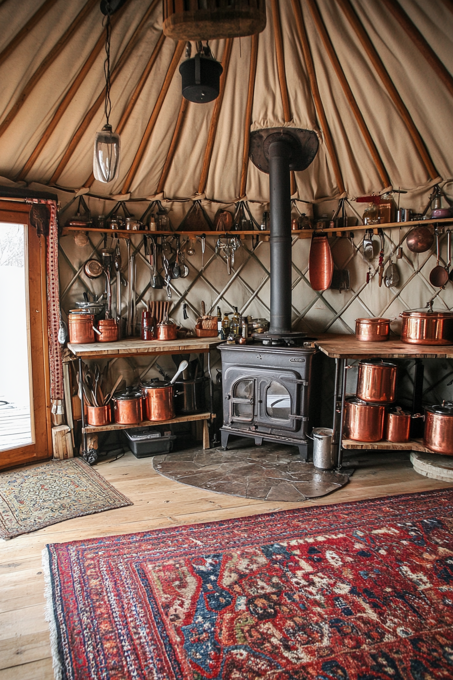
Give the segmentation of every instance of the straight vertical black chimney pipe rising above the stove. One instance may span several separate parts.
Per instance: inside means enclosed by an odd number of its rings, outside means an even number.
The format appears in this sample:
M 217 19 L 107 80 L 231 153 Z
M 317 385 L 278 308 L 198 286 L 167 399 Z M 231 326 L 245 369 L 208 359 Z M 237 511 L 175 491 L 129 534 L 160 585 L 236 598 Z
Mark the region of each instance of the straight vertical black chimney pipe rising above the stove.
M 291 333 L 291 147 L 285 139 L 268 148 L 270 190 L 270 328 Z

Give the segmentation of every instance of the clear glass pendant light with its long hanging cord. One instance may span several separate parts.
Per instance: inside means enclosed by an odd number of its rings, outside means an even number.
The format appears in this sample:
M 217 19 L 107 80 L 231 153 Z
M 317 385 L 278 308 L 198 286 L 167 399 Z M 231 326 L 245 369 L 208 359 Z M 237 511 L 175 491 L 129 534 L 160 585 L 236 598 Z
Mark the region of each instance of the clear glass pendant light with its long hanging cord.
M 111 35 L 111 23 L 110 15 L 111 11 L 109 3 L 105 3 L 105 9 L 107 10 L 107 23 L 106 23 L 106 35 L 105 35 L 105 62 L 104 62 L 104 73 L 105 73 L 105 118 L 107 122 L 103 126 L 103 129 L 96 133 L 96 139 L 94 139 L 94 154 L 93 154 L 93 174 L 94 178 L 99 182 L 113 182 L 116 180 L 117 176 L 120 174 L 120 135 L 113 132 L 111 124 L 109 124 L 109 116 L 111 112 L 111 101 L 110 101 L 110 35 Z M 103 10 L 104 11 L 104 10 Z

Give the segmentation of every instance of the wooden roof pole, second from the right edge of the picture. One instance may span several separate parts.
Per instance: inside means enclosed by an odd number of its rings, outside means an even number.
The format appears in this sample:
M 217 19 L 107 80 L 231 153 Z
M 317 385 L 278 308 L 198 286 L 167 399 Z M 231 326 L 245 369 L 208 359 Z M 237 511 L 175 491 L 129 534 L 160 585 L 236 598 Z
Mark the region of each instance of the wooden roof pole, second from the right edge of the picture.
M 395 107 L 397 108 L 399 115 L 405 122 L 407 131 L 410 133 L 412 141 L 414 141 L 416 149 L 420 154 L 420 158 L 422 158 L 424 167 L 427 169 L 430 179 L 434 180 L 436 177 L 438 177 L 439 173 L 434 167 L 433 161 L 429 156 L 429 152 L 426 146 L 424 145 L 424 141 L 420 133 L 418 132 L 415 123 L 412 120 L 412 117 L 405 106 L 405 103 L 401 99 L 399 92 L 397 88 L 395 88 L 393 81 L 388 75 L 378 52 L 376 52 L 376 49 L 374 48 L 372 41 L 369 39 L 365 29 L 363 28 L 363 24 L 361 23 L 359 17 L 355 13 L 355 10 L 352 8 L 352 5 L 350 4 L 349 0 L 337 0 L 337 2 L 342 8 L 346 17 L 348 18 L 350 25 L 355 30 L 357 37 L 361 41 L 361 44 L 365 49 L 365 52 L 367 53 L 369 61 L 371 61 L 372 65 L 376 69 L 380 79 L 382 80 L 382 84 L 384 84 L 384 87 L 386 88 L 393 103 L 395 104 Z

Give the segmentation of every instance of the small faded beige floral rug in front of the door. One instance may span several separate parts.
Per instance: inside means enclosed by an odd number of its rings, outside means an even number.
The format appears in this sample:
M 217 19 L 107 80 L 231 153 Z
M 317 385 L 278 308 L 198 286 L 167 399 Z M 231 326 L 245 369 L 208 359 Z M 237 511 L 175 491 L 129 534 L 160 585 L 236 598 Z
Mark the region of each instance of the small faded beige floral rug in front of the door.
M 81 458 L 0 473 L 0 537 L 132 505 Z

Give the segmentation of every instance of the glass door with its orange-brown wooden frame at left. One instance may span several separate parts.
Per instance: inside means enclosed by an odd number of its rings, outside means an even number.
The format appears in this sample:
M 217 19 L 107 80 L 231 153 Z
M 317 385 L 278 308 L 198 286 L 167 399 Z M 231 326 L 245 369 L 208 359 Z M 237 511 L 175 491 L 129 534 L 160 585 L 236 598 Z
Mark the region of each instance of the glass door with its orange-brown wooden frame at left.
M 45 241 L 0 203 L 0 468 L 48 458 Z M 15 219 L 16 221 L 10 221 Z

